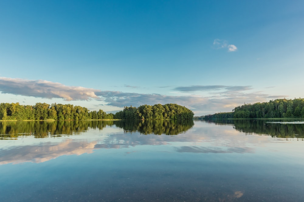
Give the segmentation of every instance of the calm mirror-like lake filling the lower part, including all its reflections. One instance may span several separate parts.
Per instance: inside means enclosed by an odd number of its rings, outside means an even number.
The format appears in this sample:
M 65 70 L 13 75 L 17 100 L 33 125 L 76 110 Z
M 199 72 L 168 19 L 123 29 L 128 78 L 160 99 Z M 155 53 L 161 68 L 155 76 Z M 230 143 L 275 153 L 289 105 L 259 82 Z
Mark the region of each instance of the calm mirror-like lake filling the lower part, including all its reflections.
M 1 201 L 303 201 L 304 122 L 0 122 Z

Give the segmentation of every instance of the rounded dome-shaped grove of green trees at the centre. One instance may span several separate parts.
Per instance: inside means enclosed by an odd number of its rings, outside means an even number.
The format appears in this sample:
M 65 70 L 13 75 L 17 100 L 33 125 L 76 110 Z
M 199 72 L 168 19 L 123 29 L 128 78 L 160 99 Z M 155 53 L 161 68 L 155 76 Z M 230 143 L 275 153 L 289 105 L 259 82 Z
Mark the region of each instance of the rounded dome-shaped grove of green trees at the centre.
M 125 107 L 123 111 L 119 111 L 114 115 L 116 119 L 192 119 L 194 113 L 181 105 L 178 104 L 154 104 L 151 105 L 141 105 L 138 108 Z

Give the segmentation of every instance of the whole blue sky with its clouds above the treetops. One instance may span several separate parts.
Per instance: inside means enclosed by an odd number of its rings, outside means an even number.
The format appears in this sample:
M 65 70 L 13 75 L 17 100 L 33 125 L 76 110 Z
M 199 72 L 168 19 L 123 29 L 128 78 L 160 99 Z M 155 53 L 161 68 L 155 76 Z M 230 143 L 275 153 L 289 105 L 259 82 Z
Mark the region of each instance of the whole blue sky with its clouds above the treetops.
M 1 1 L 0 30 L 0 102 L 200 116 L 304 97 L 304 1 Z

